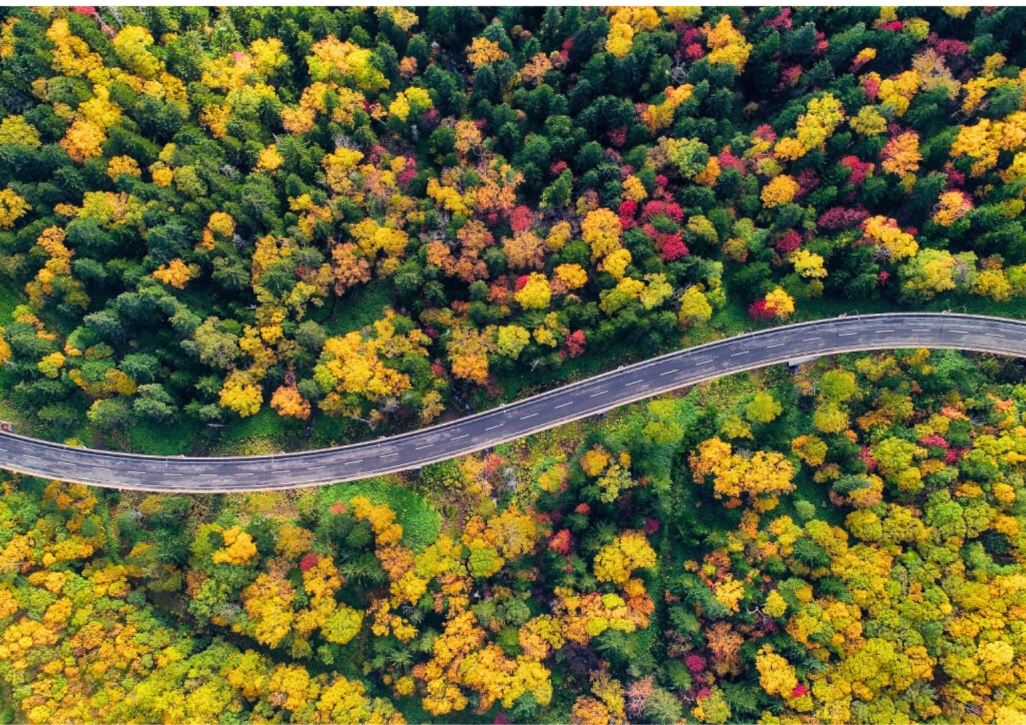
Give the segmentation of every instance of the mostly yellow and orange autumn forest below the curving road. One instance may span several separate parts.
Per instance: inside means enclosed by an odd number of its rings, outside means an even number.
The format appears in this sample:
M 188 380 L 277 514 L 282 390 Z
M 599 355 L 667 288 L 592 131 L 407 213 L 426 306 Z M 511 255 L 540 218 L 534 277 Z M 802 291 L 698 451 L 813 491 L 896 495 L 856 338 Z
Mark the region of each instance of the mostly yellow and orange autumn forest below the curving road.
M 1026 715 L 1026 388 L 824 359 L 417 474 L 169 496 L 5 476 L 19 722 Z

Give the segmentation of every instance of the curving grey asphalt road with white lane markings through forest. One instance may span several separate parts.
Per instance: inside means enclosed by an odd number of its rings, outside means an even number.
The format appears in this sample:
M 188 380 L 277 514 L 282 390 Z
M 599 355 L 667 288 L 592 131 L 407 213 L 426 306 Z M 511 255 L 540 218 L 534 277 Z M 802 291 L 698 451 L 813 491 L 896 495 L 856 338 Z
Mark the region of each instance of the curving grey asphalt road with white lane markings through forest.
M 895 313 L 773 327 L 627 365 L 451 422 L 367 443 L 277 455 L 141 455 L 0 433 L 0 468 L 143 491 L 226 493 L 316 486 L 416 469 L 734 372 L 832 353 L 899 348 L 1026 357 L 1026 321 Z

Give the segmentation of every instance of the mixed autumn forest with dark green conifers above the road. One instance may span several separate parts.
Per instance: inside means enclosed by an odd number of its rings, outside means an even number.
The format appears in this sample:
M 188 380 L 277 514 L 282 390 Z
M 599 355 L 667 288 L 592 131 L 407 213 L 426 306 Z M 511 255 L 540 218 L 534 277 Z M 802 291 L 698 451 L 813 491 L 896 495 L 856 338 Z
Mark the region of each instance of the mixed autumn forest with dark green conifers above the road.
M 682 335 L 1012 309 L 1023 24 L 953 7 L 9 10 L 5 410 L 152 452 L 329 444 Z

